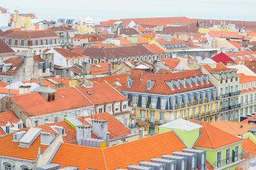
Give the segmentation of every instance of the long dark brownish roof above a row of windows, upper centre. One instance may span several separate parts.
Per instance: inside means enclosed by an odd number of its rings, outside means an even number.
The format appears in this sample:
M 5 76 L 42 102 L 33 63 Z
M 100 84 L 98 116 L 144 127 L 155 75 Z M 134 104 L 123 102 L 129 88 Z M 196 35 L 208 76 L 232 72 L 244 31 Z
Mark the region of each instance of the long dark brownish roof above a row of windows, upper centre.
M 143 45 L 127 46 L 127 47 L 112 47 L 112 48 L 91 48 L 88 47 L 82 55 L 87 55 L 91 58 L 112 60 L 123 57 L 137 57 L 143 55 L 153 55 Z

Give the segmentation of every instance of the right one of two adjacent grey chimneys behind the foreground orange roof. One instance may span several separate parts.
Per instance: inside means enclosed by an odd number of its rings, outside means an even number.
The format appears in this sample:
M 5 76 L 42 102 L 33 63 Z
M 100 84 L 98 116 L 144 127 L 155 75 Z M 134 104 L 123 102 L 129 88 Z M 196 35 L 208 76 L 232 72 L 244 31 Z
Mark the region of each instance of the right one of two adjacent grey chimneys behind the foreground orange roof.
M 101 140 L 106 140 L 106 133 L 108 132 L 108 120 L 92 120 L 92 132 Z

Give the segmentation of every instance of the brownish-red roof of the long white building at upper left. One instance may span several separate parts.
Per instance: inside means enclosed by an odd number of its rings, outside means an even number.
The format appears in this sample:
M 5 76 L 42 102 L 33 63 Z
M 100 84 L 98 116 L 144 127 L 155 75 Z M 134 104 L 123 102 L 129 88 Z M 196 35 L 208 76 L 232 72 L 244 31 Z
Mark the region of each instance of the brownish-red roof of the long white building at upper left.
M 13 28 L 0 33 L 0 37 L 30 40 L 38 38 L 58 38 L 59 36 L 50 30 L 21 30 L 21 28 Z

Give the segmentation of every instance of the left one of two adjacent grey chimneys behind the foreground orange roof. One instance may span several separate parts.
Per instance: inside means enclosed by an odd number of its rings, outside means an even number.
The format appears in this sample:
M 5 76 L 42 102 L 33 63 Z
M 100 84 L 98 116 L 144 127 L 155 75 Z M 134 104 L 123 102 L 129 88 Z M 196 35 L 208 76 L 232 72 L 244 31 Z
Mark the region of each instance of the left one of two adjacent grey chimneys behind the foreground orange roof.
M 90 125 L 78 125 L 77 128 L 77 142 L 82 144 L 82 139 L 91 138 L 91 126 Z

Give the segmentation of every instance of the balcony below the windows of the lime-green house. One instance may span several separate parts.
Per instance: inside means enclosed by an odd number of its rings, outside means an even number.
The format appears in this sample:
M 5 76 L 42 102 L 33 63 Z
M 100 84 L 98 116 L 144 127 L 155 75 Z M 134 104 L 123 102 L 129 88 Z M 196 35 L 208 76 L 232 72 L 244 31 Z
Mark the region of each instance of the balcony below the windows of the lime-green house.
M 236 157 L 229 157 L 228 159 L 222 159 L 220 161 L 214 162 L 211 164 L 214 169 L 226 169 L 229 166 L 233 166 L 234 164 L 238 164 L 243 160 L 243 154 L 238 154 Z M 208 167 L 206 166 L 208 169 Z

